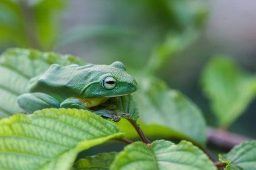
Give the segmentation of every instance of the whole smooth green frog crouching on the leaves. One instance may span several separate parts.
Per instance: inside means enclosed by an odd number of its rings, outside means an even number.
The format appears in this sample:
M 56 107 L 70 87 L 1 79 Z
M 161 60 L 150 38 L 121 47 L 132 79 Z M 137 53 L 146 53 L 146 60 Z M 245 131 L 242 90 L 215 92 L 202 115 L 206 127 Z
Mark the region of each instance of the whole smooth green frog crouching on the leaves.
M 44 74 L 30 80 L 28 91 L 18 97 L 18 105 L 28 113 L 44 108 L 88 110 L 109 97 L 127 95 L 137 83 L 122 62 L 111 65 L 51 65 Z M 104 116 L 104 113 L 98 112 Z M 110 117 L 110 116 L 106 116 Z

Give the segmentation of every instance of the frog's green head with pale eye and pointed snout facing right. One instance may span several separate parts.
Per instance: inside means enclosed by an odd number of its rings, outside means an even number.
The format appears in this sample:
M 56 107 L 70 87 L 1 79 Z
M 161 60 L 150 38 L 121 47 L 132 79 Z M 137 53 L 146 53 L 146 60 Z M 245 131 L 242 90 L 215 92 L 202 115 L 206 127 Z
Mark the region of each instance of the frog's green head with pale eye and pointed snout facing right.
M 82 97 L 115 97 L 137 90 L 137 82 L 126 72 L 122 62 L 111 65 L 91 65 L 90 83 L 82 90 Z

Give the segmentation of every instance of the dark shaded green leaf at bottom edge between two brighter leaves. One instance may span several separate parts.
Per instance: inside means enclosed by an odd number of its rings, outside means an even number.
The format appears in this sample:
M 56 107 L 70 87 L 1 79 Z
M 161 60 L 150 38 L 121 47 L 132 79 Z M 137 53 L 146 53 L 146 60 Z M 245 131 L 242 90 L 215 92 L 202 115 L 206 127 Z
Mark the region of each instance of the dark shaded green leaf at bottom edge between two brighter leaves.
M 73 165 L 73 170 L 106 170 L 113 163 L 117 153 L 100 153 L 80 159 Z

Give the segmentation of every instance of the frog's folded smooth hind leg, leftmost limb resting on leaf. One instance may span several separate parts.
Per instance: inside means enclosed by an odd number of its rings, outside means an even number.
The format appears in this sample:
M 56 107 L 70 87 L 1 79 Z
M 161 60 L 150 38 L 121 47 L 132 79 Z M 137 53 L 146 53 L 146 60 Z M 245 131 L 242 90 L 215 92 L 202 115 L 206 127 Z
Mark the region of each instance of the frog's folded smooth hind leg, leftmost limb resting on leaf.
M 60 105 L 57 99 L 45 93 L 25 93 L 18 97 L 17 102 L 29 114 L 45 108 L 59 108 Z

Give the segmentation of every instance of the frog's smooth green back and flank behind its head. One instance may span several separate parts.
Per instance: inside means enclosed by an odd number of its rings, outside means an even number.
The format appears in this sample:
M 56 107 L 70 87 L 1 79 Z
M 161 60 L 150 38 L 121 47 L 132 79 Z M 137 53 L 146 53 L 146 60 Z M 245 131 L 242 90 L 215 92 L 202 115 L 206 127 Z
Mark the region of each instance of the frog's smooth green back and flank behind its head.
M 66 67 L 51 65 L 42 75 L 30 80 L 28 91 L 46 93 L 59 99 L 79 97 L 81 92 L 80 88 L 77 87 L 79 80 L 76 80 L 77 85 L 73 84 L 78 68 L 77 65 Z

